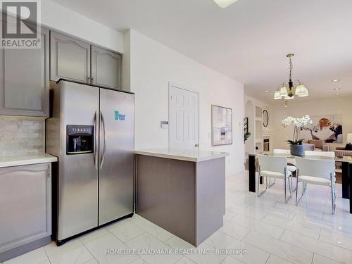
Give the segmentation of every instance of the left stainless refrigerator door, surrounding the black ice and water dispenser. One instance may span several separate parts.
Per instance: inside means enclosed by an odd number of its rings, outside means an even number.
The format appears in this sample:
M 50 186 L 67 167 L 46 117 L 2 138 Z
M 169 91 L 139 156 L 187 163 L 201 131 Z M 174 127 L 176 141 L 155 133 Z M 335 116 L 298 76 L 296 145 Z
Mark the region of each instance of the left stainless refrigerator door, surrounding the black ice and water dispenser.
M 99 88 L 61 81 L 58 241 L 98 225 Z M 67 154 L 67 125 L 94 126 L 94 152 Z

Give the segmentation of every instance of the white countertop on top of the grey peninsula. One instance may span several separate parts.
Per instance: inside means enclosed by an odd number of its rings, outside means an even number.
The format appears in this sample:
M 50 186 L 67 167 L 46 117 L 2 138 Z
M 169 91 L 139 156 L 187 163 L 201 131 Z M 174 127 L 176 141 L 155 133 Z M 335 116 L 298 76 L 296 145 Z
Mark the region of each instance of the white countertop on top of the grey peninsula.
M 201 162 L 209 161 L 215 158 L 224 158 L 229 153 L 216 151 L 199 151 L 199 150 L 170 150 L 170 149 L 145 149 L 137 150 L 134 153 L 145 156 L 153 156 L 158 158 L 171 158 L 180 161 Z

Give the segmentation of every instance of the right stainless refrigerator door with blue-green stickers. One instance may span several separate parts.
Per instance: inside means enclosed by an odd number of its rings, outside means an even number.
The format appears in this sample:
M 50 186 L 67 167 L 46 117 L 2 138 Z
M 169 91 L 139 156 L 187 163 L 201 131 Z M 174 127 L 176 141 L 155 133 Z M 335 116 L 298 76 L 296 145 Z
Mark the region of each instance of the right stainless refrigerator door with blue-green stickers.
M 100 89 L 99 225 L 133 212 L 134 95 Z

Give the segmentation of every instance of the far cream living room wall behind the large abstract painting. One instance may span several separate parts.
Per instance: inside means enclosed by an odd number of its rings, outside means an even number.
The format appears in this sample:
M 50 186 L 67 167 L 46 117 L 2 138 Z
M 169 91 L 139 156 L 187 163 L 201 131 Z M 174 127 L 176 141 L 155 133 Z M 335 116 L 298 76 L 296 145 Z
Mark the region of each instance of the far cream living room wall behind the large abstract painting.
M 299 99 L 298 99 L 299 100 Z M 272 106 L 274 134 L 274 147 L 278 149 L 288 149 L 285 140 L 291 139 L 293 135 L 293 127 L 282 127 L 281 120 L 287 116 L 301 117 L 303 115 L 342 115 L 342 125 L 344 134 L 343 144 L 328 144 L 331 150 L 336 146 L 345 146 L 347 133 L 352 132 L 352 99 L 350 98 L 332 98 L 317 101 L 289 101 L 289 107 L 285 108 L 282 104 Z

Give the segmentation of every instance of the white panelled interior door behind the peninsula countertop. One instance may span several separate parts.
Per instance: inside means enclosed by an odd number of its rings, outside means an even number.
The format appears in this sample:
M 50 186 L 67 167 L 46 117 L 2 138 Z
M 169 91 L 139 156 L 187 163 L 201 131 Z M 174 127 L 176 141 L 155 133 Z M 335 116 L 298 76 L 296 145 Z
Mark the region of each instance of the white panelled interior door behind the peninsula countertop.
M 170 149 L 196 149 L 199 145 L 198 103 L 199 96 L 196 92 L 170 85 Z

